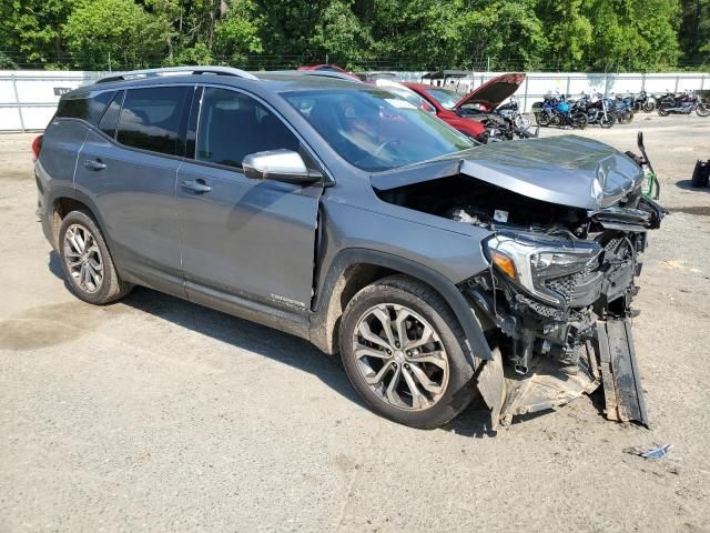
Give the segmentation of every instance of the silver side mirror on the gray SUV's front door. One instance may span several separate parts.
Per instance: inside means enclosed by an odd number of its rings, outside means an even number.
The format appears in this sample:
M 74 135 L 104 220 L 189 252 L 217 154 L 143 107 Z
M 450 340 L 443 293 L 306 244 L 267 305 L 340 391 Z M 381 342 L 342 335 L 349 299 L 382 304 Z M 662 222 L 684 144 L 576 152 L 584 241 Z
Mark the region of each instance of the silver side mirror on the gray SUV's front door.
M 308 170 L 301 154 L 293 150 L 250 153 L 242 161 L 242 169 L 244 175 L 255 180 L 308 184 L 323 178 L 321 172 Z

